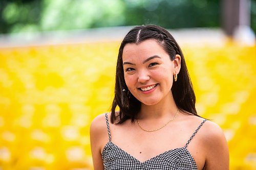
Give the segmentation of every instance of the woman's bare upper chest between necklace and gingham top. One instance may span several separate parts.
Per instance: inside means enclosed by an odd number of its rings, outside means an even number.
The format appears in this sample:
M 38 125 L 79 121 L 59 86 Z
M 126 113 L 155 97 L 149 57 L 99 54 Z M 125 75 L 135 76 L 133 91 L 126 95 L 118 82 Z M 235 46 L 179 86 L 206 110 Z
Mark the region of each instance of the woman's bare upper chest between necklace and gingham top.
M 143 162 L 166 151 L 185 146 L 191 134 L 184 128 L 176 127 L 172 130 L 173 128 L 168 126 L 156 132 L 145 132 L 132 125 L 112 127 L 111 138 L 120 149 Z

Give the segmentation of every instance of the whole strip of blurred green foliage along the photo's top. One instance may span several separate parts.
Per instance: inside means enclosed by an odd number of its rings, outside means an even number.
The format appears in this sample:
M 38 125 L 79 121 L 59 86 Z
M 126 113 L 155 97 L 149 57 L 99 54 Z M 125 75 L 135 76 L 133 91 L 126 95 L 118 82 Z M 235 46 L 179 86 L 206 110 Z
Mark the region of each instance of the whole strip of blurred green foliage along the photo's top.
M 252 6 L 255 6 L 253 2 Z M 171 29 L 220 27 L 220 17 L 221 0 L 0 1 L 0 33 L 147 23 Z M 255 27 L 254 22 L 252 27 Z

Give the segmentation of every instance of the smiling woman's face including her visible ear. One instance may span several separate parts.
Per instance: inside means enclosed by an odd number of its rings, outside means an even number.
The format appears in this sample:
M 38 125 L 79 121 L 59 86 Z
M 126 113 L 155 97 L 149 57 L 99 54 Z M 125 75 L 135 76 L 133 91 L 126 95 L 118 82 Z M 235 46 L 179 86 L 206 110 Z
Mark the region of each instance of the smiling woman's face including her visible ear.
M 155 105 L 171 96 L 173 75 L 180 69 L 179 55 L 171 61 L 155 39 L 148 39 L 127 43 L 122 59 L 125 83 L 141 103 Z

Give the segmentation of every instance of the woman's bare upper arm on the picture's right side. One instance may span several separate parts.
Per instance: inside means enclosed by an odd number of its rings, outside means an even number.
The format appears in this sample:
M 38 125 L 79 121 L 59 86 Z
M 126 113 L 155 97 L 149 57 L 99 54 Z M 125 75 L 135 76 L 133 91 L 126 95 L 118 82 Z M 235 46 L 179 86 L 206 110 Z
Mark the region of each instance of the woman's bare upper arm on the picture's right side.
M 208 122 L 208 121 L 207 121 Z M 229 152 L 222 129 L 215 123 L 208 122 L 205 134 L 206 170 L 228 170 Z

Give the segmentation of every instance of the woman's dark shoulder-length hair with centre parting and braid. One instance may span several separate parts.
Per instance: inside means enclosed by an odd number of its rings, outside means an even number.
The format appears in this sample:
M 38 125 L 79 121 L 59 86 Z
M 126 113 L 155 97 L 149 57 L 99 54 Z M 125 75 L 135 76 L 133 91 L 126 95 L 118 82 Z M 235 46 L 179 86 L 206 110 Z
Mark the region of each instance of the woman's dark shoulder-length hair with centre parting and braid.
M 124 37 L 119 48 L 116 65 L 115 97 L 111 108 L 111 123 L 122 124 L 127 119 L 131 119 L 132 122 L 134 122 L 140 111 L 141 102 L 130 93 L 124 81 L 122 54 L 125 44 L 138 44 L 147 39 L 157 40 L 164 51 L 169 55 L 170 60 L 173 61 L 177 54 L 181 56 L 181 68 L 178 80 L 176 82 L 174 81 L 171 90 L 179 110 L 187 114 L 197 115 L 195 108 L 196 96 L 180 46 L 174 37 L 165 29 L 155 25 L 142 25 L 130 30 Z M 173 77 L 173 75 L 170 76 Z M 118 115 L 116 114 L 117 106 L 120 109 Z M 118 119 L 117 116 L 119 116 Z

